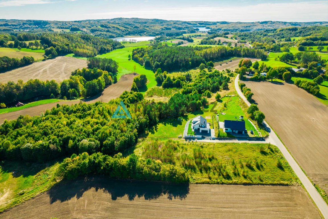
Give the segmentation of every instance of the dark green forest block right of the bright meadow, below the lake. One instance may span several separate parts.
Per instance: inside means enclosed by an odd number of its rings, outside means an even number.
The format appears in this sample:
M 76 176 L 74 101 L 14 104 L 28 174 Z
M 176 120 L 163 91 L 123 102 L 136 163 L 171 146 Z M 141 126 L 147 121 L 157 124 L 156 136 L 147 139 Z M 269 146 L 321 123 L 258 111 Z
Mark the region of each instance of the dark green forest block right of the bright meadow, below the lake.
M 133 49 L 133 60 L 145 67 L 165 69 L 166 71 L 185 70 L 198 67 L 201 63 L 232 56 L 265 59 L 263 50 L 250 48 L 228 48 L 224 46 L 204 47 L 168 47 L 155 44 L 147 48 Z

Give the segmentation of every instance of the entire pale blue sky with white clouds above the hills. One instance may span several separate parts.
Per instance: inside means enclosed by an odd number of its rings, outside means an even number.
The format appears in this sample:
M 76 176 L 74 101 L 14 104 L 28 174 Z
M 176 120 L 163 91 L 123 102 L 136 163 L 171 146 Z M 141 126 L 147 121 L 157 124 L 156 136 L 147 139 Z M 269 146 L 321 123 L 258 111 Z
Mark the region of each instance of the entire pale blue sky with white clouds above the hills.
M 0 19 L 328 21 L 328 0 L 0 0 Z

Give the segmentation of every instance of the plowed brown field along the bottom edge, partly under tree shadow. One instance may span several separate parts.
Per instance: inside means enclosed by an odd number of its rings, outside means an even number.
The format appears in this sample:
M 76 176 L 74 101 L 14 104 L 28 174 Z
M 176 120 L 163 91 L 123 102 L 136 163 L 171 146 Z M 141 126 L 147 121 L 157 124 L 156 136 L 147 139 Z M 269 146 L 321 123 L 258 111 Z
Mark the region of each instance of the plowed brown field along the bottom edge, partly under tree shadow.
M 7 218 L 320 218 L 300 186 L 79 179 L 1 214 Z

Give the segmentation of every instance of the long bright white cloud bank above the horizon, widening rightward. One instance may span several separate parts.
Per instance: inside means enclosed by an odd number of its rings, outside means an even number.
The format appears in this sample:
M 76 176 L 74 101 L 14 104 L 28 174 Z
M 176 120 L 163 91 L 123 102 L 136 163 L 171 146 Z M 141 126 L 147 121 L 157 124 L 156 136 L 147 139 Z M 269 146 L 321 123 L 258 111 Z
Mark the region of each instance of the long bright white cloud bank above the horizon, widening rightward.
M 162 8 L 156 10 L 113 11 L 87 14 L 90 19 L 115 17 L 157 18 L 186 21 L 328 21 L 328 1 L 260 3 L 257 5 L 225 5 Z M 92 17 L 92 18 L 91 18 Z

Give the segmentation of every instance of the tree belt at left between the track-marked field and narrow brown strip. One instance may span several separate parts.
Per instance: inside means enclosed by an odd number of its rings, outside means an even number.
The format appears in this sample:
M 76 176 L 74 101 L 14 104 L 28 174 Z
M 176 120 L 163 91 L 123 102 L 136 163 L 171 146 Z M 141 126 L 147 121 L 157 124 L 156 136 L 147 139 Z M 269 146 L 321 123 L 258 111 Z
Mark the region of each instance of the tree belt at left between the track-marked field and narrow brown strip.
M 0 103 L 13 104 L 17 101 L 31 100 L 45 96 L 55 98 L 59 95 L 64 99 L 91 97 L 101 93 L 106 86 L 113 83 L 113 74 L 100 69 L 76 69 L 69 79 L 60 84 L 55 80 L 41 81 L 30 79 L 26 83 L 18 80 L 0 83 Z

